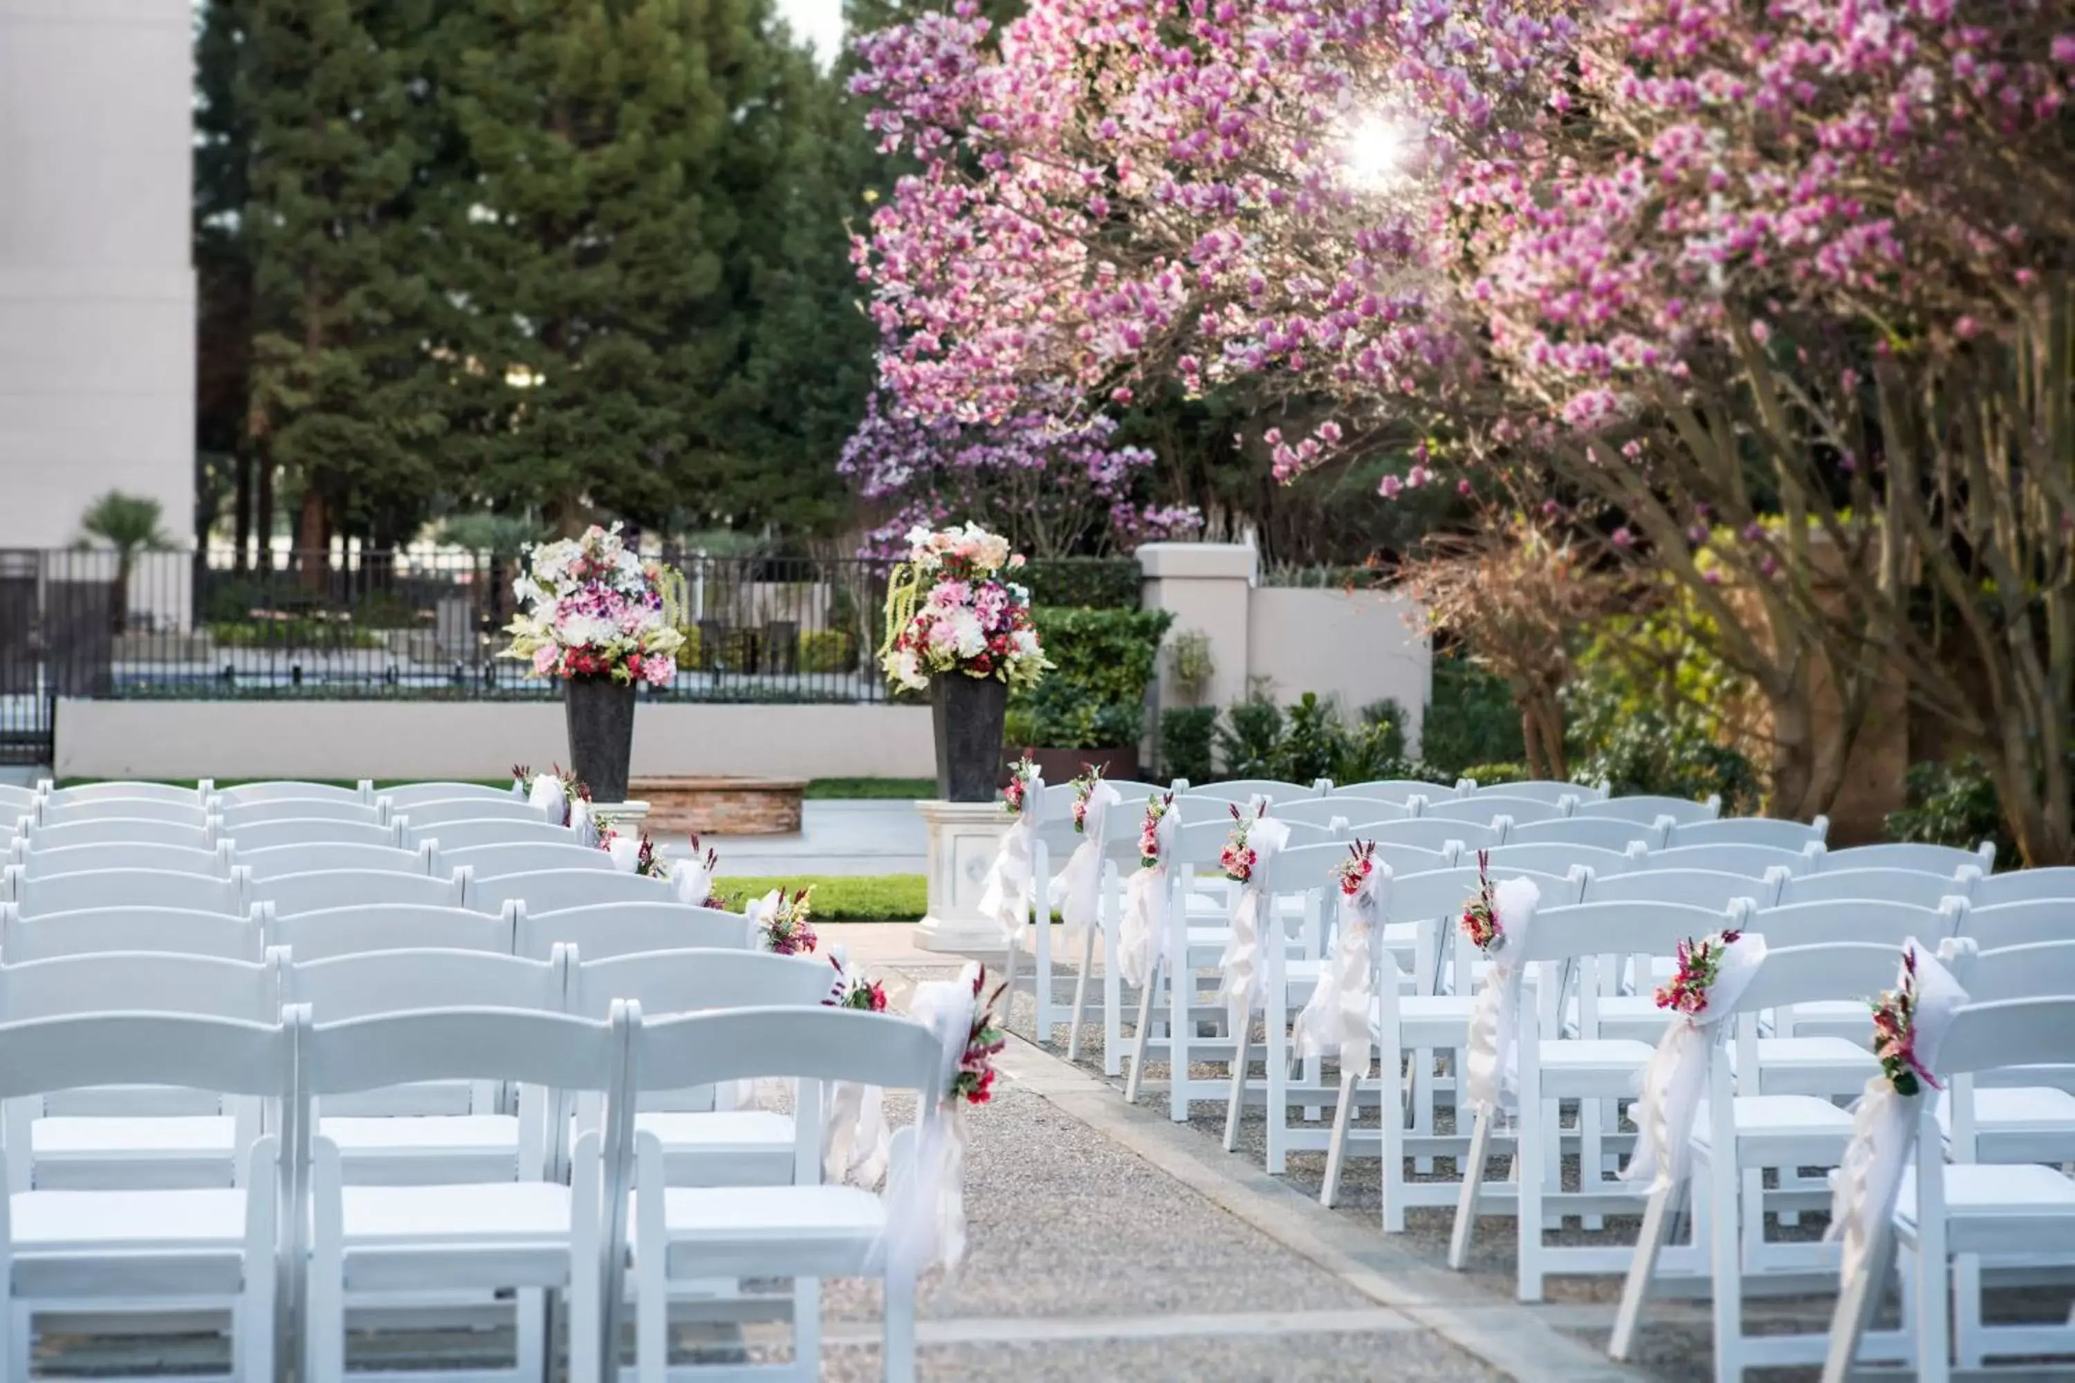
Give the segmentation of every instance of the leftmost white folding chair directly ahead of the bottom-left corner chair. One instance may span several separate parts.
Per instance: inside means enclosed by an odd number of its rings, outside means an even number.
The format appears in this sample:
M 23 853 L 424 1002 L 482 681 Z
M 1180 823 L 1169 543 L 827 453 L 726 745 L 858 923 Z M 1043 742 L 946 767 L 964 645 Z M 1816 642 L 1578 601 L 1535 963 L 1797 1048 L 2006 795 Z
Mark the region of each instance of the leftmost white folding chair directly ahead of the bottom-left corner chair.
M 4 1022 L 108 1012 L 278 1022 L 280 960 L 98 952 L 0 964 Z M 257 1099 L 151 1086 L 8 1101 L 8 1190 L 234 1186 L 264 1113 Z

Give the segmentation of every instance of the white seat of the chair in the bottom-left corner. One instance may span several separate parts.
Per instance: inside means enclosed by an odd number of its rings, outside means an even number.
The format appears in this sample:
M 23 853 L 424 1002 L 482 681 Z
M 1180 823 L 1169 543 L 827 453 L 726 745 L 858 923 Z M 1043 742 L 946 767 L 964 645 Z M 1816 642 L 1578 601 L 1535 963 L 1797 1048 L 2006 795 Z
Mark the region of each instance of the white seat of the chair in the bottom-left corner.
M 122 1254 L 241 1250 L 245 1192 L 208 1190 L 25 1190 L 8 1196 L 15 1252 Z

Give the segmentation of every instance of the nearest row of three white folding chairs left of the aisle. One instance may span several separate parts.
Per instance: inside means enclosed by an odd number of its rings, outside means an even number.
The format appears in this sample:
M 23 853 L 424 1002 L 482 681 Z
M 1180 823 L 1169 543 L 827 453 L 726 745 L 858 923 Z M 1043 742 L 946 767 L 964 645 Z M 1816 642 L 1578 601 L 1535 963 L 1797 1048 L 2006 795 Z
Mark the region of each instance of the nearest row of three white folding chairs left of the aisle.
M 585 1234 L 593 1192 L 608 1186 L 604 1242 L 620 1240 L 627 1176 L 620 1161 L 600 1167 L 596 1142 L 579 1142 L 575 1192 L 552 1194 L 535 1184 L 523 1192 L 490 1188 L 425 1188 L 411 1194 L 380 1188 L 349 1194 L 336 1174 L 336 1155 L 320 1142 L 315 1157 L 303 1151 L 307 1118 L 297 1118 L 311 1099 L 328 1099 L 371 1086 L 394 1086 L 427 1078 L 517 1078 L 556 1091 L 612 1095 L 633 1089 L 676 1086 L 687 1078 L 712 1084 L 741 1076 L 797 1076 L 809 1080 L 859 1080 L 892 1089 L 932 1089 L 942 1078 L 936 1039 L 919 1024 L 882 1014 L 842 1010 L 747 1010 L 739 1014 L 691 1016 L 641 1024 L 639 1033 L 618 1024 L 585 1022 L 566 1014 L 517 1014 L 454 1010 L 347 1022 L 309 1024 L 295 1010 L 295 1037 L 278 1028 L 224 1018 L 183 1018 L 164 1014 L 118 1014 L 54 1018 L 10 1024 L 0 1039 L 0 1097 L 31 1097 L 75 1084 L 187 1084 L 230 1095 L 276 1097 L 293 1093 L 286 1186 L 290 1188 L 286 1234 L 270 1217 L 274 1196 L 266 1190 L 282 1172 L 276 1149 L 259 1140 L 247 1186 L 253 1194 L 151 1192 L 129 1194 L 118 1215 L 104 1192 L 25 1192 L 15 1198 L 8 1273 L 12 1296 L 31 1298 L 35 1277 L 25 1269 L 62 1269 L 85 1257 L 95 1265 L 95 1288 L 129 1296 L 166 1294 L 162 1273 L 141 1273 L 135 1252 L 137 1221 L 164 1223 L 158 1250 L 189 1250 L 203 1265 L 222 1265 L 218 1281 L 189 1273 L 178 1296 L 224 1296 L 239 1310 L 239 1358 L 232 1377 L 266 1377 L 272 1360 L 274 1325 L 270 1290 L 276 1273 L 255 1261 L 272 1257 L 282 1238 L 290 1267 L 303 1263 L 303 1205 L 309 1215 L 309 1342 L 305 1377 L 336 1379 L 342 1373 L 344 1281 L 357 1286 L 398 1286 L 423 1290 L 427 1275 L 440 1288 L 519 1286 L 564 1288 L 573 1313 L 573 1377 L 596 1379 L 600 1319 L 616 1306 L 612 1279 L 618 1254 L 600 1252 L 598 1225 Z M 629 1078 L 627 1062 L 641 1074 Z M 618 1066 L 618 1068 L 616 1068 Z M 625 1101 L 625 1095 L 622 1095 Z M 813 1113 L 803 1099 L 803 1118 Z M 934 1118 L 936 1101 L 919 1101 L 919 1118 Z M 606 1122 L 608 1140 L 616 1124 Z M 809 1159 L 818 1161 L 818 1159 Z M 643 1219 L 637 1221 L 635 1279 L 643 1286 L 643 1317 L 666 1306 L 668 1277 L 693 1273 L 759 1275 L 857 1275 L 882 1267 L 884 1207 L 867 1192 L 842 1188 L 768 1188 L 764 1192 L 664 1192 L 660 1149 L 643 1136 L 641 1186 Z M 898 1180 L 896 1180 L 898 1184 Z M 210 1196 L 212 1192 L 199 1192 Z M 872 1201 L 872 1205 L 863 1205 Z M 112 1223 L 120 1219 L 120 1223 Z M 33 1227 L 42 1234 L 29 1236 Z M 521 1240 L 515 1244 L 515 1232 Z M 183 1242 L 185 1240 L 185 1242 Z M 427 1250 L 438 1250 L 427 1261 Z M 517 1250 L 517 1259 L 515 1259 Z M 652 1257 L 654 1254 L 654 1257 Z M 546 1269 L 542 1261 L 552 1261 Z M 154 1259 L 162 1261 L 162 1259 Z M 596 1273 L 606 1267 L 606 1283 Z M 683 1267 L 681 1267 L 683 1265 Z M 913 1263 L 894 1259 L 888 1300 L 888 1373 L 907 1377 L 911 1358 Z M 290 1271 L 297 1281 L 301 1273 Z M 652 1283 L 658 1290 L 649 1290 Z M 216 1288 L 216 1292 L 210 1292 Z M 71 1283 L 77 1292 L 77 1283 Z M 602 1300 L 600 1300 L 602 1298 Z M 12 1327 L 12 1317 L 8 1321 Z M 652 1331 L 643 1319 L 643 1377 L 662 1377 L 652 1358 Z M 531 1335 L 537 1339 L 537 1333 Z M 10 1342 L 19 1346 L 21 1342 Z M 525 1344 L 523 1344 L 525 1348 Z M 8 1350 L 15 1354 L 15 1348 Z M 542 1362 L 535 1354 L 533 1362 Z M 537 1368 L 533 1377 L 540 1377 Z

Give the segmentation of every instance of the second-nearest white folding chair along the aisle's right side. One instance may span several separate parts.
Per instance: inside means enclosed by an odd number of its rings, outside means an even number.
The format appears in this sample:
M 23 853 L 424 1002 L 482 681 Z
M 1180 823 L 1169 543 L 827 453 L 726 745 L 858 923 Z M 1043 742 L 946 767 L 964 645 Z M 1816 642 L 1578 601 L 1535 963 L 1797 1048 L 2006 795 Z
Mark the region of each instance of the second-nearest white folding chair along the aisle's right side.
M 1697 1207 L 1693 1244 L 1675 1250 L 1683 1263 L 1675 1275 L 1710 1279 L 1714 1298 L 1714 1371 L 1720 1379 L 1741 1379 L 1747 1368 L 1811 1364 L 1822 1358 L 1820 1339 L 1807 1335 L 1749 1335 L 1743 1325 L 1743 1296 L 1751 1281 L 1768 1273 L 1807 1275 L 1834 1271 L 1836 1248 L 1820 1242 L 1772 1242 L 1766 1213 L 1826 1209 L 1828 1188 L 1807 1188 L 1795 1178 L 1801 1167 L 1834 1167 L 1851 1142 L 1851 1113 L 1832 1097 L 1855 1095 L 1878 1072 L 1872 1053 L 1859 1049 L 1857 1066 L 1836 1070 L 1820 1089 L 1766 1093 L 1751 1078 L 1766 1068 L 1760 1016 L 1776 1008 L 1834 1004 L 1847 995 L 1872 995 L 1894 983 L 1897 948 L 1872 943 L 1774 945 L 1766 935 L 1766 956 L 1751 975 L 1735 1008 L 1720 1026 L 1733 1045 L 1710 1055 L 1708 1097 L 1689 1130 L 1670 1130 L 1691 1147 L 1691 1184 L 1645 1188 L 1641 1238 L 1629 1263 L 1621 1310 L 1608 1352 L 1631 1358 L 1643 1308 L 1660 1279 L 1662 1254 L 1681 1207 Z M 1863 1004 L 1861 1004 L 1863 1012 Z M 1766 1172 L 1778 1172 L 1778 1186 L 1766 1186 Z M 1785 1207 L 1797 1207 L 1787 1211 Z

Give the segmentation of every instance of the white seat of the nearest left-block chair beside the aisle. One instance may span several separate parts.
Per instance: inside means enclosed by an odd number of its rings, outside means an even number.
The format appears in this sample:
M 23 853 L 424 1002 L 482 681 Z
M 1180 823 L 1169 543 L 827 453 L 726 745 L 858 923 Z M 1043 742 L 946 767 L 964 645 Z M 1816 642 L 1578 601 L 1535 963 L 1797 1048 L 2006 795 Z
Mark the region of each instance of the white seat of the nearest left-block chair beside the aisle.
M 670 1277 L 853 1275 L 867 1269 L 886 1232 L 886 1205 L 857 1186 L 670 1186 L 662 1207 Z M 637 1203 L 629 1230 L 639 1234 L 639 1221 Z

